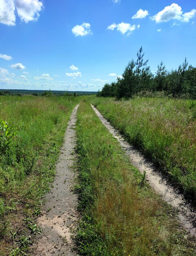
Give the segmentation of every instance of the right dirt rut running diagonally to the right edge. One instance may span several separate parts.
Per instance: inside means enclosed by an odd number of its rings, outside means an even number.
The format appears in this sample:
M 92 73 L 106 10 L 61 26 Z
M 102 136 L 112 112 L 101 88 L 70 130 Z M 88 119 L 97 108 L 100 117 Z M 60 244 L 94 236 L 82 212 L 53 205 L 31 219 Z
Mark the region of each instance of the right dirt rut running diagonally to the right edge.
M 103 115 L 101 115 L 95 106 L 92 104 L 91 106 L 102 124 L 104 124 L 109 132 L 119 141 L 119 144 L 129 156 L 133 166 L 135 166 L 142 174 L 144 171 L 146 172 L 145 177 L 150 186 L 162 196 L 163 200 L 178 209 L 178 218 L 181 220 L 183 226 L 190 232 L 190 234 L 196 236 L 196 213 L 190 209 L 183 198 L 183 195 L 176 193 L 172 186 L 167 184 L 167 181 L 156 172 L 154 165 L 145 159 L 141 152 L 126 142 L 119 132 L 110 125 Z

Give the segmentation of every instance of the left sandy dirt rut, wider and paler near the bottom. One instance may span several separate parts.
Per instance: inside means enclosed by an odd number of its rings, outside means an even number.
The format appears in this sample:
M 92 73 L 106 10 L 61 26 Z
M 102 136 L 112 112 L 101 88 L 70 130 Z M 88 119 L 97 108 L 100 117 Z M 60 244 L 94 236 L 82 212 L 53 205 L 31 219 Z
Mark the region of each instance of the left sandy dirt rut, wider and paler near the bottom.
M 68 122 L 65 141 L 56 165 L 56 177 L 51 193 L 46 195 L 45 214 L 37 219 L 42 234 L 34 242 L 32 251 L 35 256 L 75 256 L 73 251 L 72 229 L 77 220 L 77 197 L 71 192 L 74 173 L 75 123 L 77 105 Z

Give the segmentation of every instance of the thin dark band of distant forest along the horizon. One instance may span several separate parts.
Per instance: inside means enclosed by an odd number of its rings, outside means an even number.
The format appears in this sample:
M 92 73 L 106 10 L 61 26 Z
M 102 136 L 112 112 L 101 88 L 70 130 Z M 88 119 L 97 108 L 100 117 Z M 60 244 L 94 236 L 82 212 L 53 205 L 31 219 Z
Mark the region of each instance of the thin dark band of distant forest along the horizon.
M 80 96 L 96 94 L 97 92 L 69 92 L 69 91 L 52 91 L 52 90 L 7 90 L 0 89 L 0 95 L 33 95 L 33 96 Z

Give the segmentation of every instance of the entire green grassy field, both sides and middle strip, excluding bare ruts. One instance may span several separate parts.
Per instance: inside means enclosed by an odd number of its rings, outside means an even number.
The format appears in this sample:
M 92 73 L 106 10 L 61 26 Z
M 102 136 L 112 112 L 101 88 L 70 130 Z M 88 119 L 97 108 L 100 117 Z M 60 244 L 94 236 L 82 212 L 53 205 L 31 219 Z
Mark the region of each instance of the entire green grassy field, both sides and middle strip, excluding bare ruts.
M 80 104 L 72 128 L 77 134 L 72 166 L 77 254 L 194 256 L 196 240 L 178 222 L 177 210 L 145 182 L 90 103 L 174 186 L 195 198 L 196 101 L 0 96 L 0 255 L 33 255 L 31 244 L 42 234 L 36 218 L 50 211 L 43 212 L 44 195 L 58 187 L 55 163 L 71 112 Z

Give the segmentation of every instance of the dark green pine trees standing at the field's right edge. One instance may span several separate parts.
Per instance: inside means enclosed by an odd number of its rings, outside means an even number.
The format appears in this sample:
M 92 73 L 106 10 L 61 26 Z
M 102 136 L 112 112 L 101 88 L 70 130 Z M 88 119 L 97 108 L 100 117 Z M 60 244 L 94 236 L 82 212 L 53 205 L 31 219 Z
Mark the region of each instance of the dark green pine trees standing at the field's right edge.
M 132 59 L 128 63 L 122 78 L 117 78 L 117 82 L 111 84 L 106 83 L 97 96 L 126 99 L 134 95 L 168 95 L 196 99 L 196 67 L 188 65 L 186 58 L 178 69 L 171 71 L 161 61 L 154 75 L 148 66 L 148 60 L 144 61 L 143 57 L 141 47 L 137 52 L 137 61 Z

